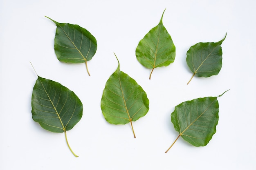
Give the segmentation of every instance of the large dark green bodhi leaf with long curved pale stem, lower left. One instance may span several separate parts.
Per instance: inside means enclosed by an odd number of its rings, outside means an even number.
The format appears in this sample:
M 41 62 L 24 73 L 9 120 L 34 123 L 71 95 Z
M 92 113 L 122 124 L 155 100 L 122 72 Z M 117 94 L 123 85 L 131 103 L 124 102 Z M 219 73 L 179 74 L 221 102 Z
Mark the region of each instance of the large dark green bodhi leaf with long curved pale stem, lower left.
M 32 118 L 51 132 L 65 133 L 71 130 L 83 115 L 83 104 L 73 91 L 58 82 L 38 76 L 33 88 Z M 75 157 L 78 157 L 70 148 Z

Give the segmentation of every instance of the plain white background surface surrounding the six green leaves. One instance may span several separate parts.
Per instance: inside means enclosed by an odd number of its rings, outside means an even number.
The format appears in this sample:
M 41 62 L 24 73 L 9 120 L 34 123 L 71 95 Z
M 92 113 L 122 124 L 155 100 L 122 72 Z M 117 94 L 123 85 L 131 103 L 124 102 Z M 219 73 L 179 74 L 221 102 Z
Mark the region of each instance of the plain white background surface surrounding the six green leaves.
M 1 170 L 249 170 L 256 168 L 256 2 L 254 0 L 1 0 L 0 1 L 0 169 Z M 163 24 L 176 46 L 174 63 L 150 69 L 135 49 L 148 31 Z M 98 50 L 85 64 L 59 62 L 55 24 L 79 24 L 97 39 Z M 192 76 L 186 51 L 198 42 L 222 43 L 222 69 L 209 78 Z M 135 79 L 150 100 L 146 116 L 112 125 L 100 101 L 117 68 Z M 44 130 L 32 120 L 31 95 L 38 75 L 74 91 L 83 117 L 64 133 Z M 218 96 L 217 132 L 207 146 L 179 138 L 171 113 L 181 102 Z

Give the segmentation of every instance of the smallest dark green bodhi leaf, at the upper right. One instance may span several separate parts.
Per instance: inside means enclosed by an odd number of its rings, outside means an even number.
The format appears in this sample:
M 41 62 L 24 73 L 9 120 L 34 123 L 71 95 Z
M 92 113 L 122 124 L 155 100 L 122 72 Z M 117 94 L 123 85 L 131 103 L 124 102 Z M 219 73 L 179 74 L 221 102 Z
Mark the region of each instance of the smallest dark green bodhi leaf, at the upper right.
M 226 36 L 227 33 L 225 38 Z M 190 47 L 189 51 L 186 53 L 186 63 L 193 72 L 191 79 L 195 75 L 198 77 L 218 75 L 222 67 L 222 49 L 220 45 L 225 38 L 219 42 L 199 42 Z M 187 84 L 189 84 L 189 82 Z

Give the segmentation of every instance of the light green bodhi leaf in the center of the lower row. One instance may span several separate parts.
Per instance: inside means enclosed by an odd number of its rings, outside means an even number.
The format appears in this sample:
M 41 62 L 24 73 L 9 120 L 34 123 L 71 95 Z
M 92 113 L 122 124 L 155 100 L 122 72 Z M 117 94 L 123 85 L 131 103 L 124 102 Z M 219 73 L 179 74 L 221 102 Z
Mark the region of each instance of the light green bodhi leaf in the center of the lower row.
M 107 80 L 101 98 L 101 110 L 105 119 L 110 124 L 130 122 L 136 138 L 132 121 L 145 116 L 149 110 L 148 105 L 146 92 L 134 79 L 120 71 L 118 61 L 117 70 Z

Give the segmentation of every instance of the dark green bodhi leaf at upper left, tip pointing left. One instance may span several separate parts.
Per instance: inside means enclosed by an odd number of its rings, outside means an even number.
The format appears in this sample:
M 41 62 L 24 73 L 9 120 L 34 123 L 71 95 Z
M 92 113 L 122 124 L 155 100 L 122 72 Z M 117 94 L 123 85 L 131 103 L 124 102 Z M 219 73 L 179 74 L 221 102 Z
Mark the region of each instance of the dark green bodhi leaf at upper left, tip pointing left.
M 57 26 L 54 51 L 58 60 L 70 63 L 85 63 L 90 75 L 87 61 L 91 60 L 97 51 L 97 41 L 94 36 L 79 25 L 58 23 L 54 20 L 52 22 Z

